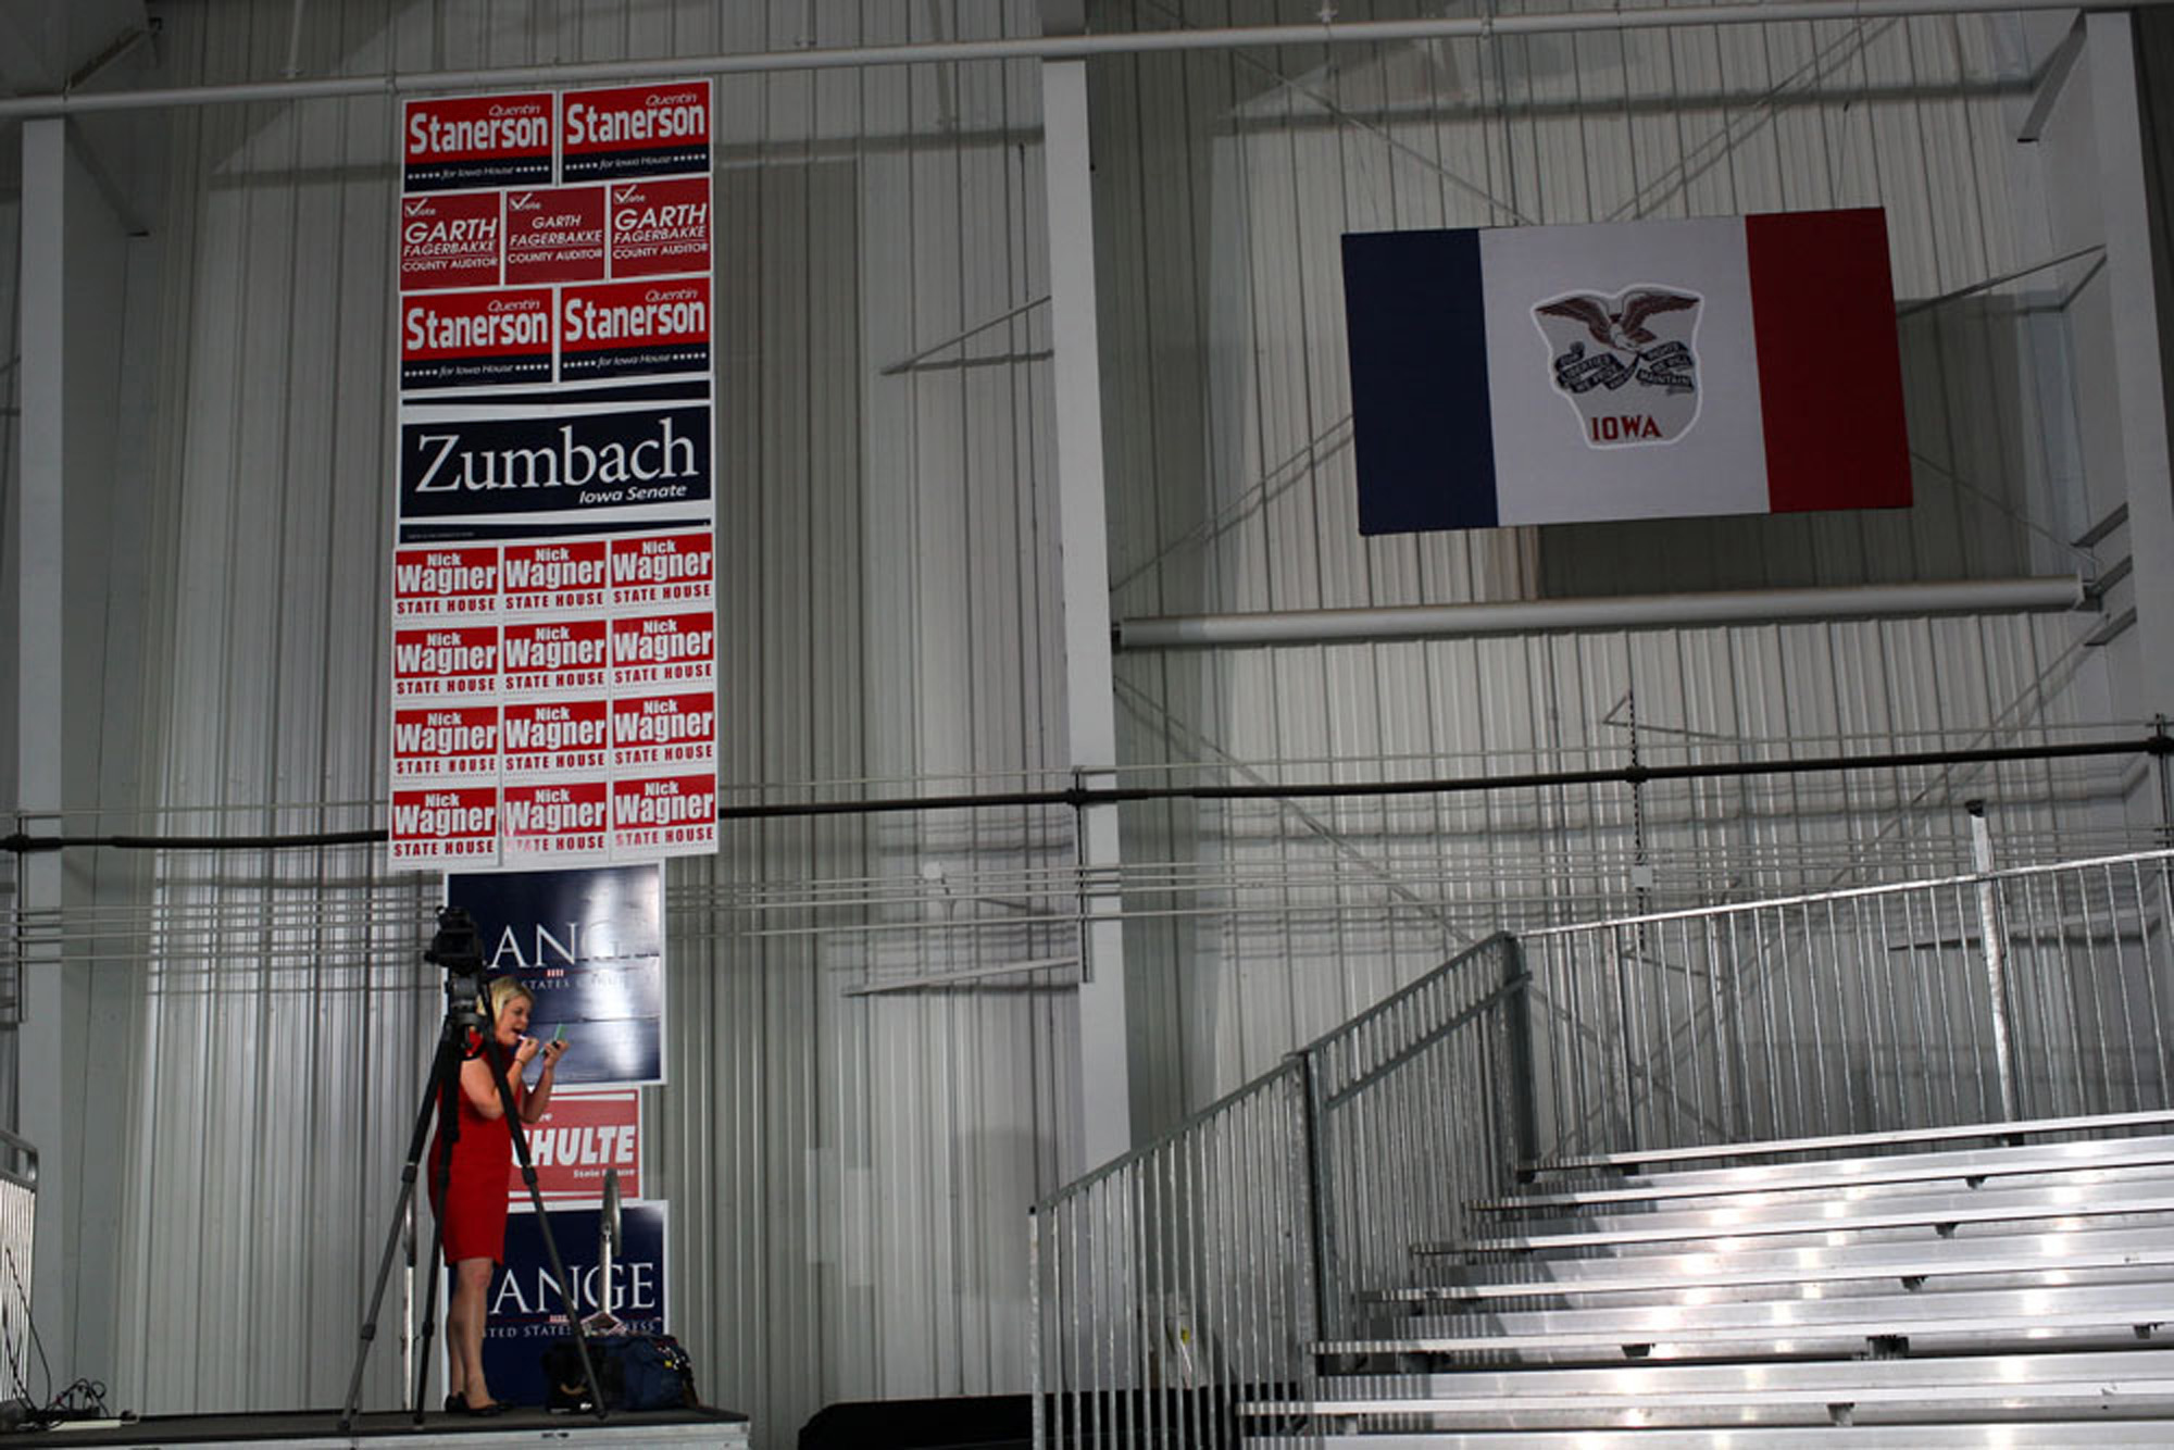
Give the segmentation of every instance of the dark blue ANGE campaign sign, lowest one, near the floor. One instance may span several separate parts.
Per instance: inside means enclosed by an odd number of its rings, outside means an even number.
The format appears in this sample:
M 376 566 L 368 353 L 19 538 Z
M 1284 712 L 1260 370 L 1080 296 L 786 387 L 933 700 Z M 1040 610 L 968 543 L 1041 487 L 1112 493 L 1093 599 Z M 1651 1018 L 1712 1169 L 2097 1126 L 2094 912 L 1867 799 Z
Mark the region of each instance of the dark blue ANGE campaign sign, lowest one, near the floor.
M 550 1233 L 574 1280 L 565 1296 L 552 1278 L 537 1215 L 507 1215 L 507 1261 L 491 1274 L 483 1328 L 483 1378 L 507 1404 L 550 1400 L 544 1350 L 567 1333 L 567 1296 L 580 1317 L 609 1304 L 630 1333 L 665 1333 L 665 1204 L 620 1204 L 620 1252 L 611 1259 L 609 1285 L 598 1254 L 602 1209 L 552 1209 Z

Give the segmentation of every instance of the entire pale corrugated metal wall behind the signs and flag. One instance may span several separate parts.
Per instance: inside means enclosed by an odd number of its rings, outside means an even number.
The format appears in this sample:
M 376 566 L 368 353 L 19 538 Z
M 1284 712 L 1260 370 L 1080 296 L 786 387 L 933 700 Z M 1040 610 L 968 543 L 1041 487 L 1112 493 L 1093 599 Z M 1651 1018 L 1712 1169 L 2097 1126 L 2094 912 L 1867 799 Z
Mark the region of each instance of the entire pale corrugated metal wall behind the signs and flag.
M 167 78 L 276 74 L 291 13 L 176 7 Z M 1372 13 L 1391 7 L 1339 7 Z M 1035 26 L 1026 0 L 307 15 L 304 74 Z M 1141 2 L 1096 24 L 1309 17 Z M 1096 63 L 1113 609 L 1646 587 L 1585 530 L 1354 537 L 1335 235 L 1883 202 L 1904 296 L 1937 298 L 2035 261 L 2002 139 L 2026 67 L 1991 35 Z M 385 757 L 391 107 L 167 126 L 146 802 L 176 830 L 363 826 Z M 733 800 L 1063 778 L 1039 167 L 1030 63 L 720 87 Z M 2024 365 L 2059 352 L 2059 307 L 2020 283 L 1904 328 L 1913 515 L 1650 526 L 1639 548 L 1694 585 L 2076 567 L 2063 374 Z M 2028 741 L 2109 715 L 2078 637 L 1959 620 L 1120 657 L 1117 704 L 1128 774 L 1154 780 Z M 1198 1107 L 1502 909 L 1946 865 L 1965 796 L 2000 804 L 2015 857 L 2124 830 L 2122 780 L 2085 767 L 1128 811 L 1135 1117 Z M 707 1393 L 763 1443 L 830 1400 L 1024 1385 L 1024 1207 L 1076 1167 L 1070 996 L 1061 970 L 915 983 L 1076 952 L 1070 857 L 1063 813 L 1015 811 L 746 824 L 672 865 L 672 1085 L 650 1102 L 670 1293 Z M 326 1404 L 437 1015 L 415 959 L 435 887 L 324 850 L 163 854 L 141 891 L 150 911 L 96 933 L 143 1000 L 117 1363 L 83 1372 L 146 1411 Z M 233 1324 L 261 1350 L 230 1354 Z M 391 1361 L 380 1341 L 374 1402 Z

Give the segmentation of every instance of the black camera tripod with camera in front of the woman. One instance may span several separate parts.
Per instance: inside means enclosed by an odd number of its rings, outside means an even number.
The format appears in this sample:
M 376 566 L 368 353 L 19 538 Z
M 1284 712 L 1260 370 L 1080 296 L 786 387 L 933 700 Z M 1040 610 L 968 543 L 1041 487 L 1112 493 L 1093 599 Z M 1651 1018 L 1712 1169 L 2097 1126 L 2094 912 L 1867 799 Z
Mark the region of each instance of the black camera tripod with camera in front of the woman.
M 430 1163 L 430 1183 L 437 1187 L 439 1202 L 446 1202 L 446 1185 L 452 1178 L 452 1143 L 461 1135 L 461 1061 L 467 1057 L 472 1037 L 480 1039 L 483 1061 L 489 1063 L 491 1083 L 498 1085 L 498 1102 L 507 1115 L 507 1130 L 513 1135 L 513 1157 L 522 1165 L 522 1183 L 528 1185 L 528 1202 L 535 1204 L 544 1252 L 550 1259 L 559 1302 L 565 1307 L 567 1333 L 574 1335 L 574 1350 L 580 1354 L 580 1374 L 589 1387 L 589 1400 L 596 1404 L 596 1417 L 604 1420 L 604 1393 L 596 1380 L 596 1363 L 589 1359 L 589 1339 L 583 1333 L 576 1285 L 559 1259 L 559 1239 L 552 1235 L 550 1215 L 544 1211 L 544 1193 L 537 1189 L 537 1170 L 528 1161 L 528 1135 L 522 1130 L 520 1107 L 513 1102 L 513 1085 L 507 1083 L 507 1057 L 498 1046 L 496 1024 L 489 1022 L 478 1000 L 483 952 L 476 943 L 476 924 L 463 909 L 446 907 L 437 913 L 437 935 L 430 939 L 424 961 L 446 967 L 446 1017 L 439 1024 L 437 1052 L 430 1059 L 430 1080 L 424 1083 L 422 1107 L 415 1113 L 415 1133 L 409 1137 L 407 1161 L 400 1167 L 400 1200 L 393 1204 L 393 1222 L 385 1233 L 385 1252 L 378 1257 L 378 1283 L 370 1291 L 370 1311 L 363 1315 L 361 1343 L 354 1346 L 354 1372 L 348 1376 L 348 1398 L 339 1413 L 339 1430 L 348 1433 L 354 1428 L 354 1411 L 363 1398 L 363 1365 L 370 1361 L 370 1346 L 378 1337 L 385 1283 L 391 1278 L 393 1254 L 400 1248 L 400 1226 L 407 1220 L 409 1204 L 415 1200 L 415 1170 L 422 1163 L 433 1122 L 437 1122 L 439 1130 L 437 1154 Z M 422 1424 L 424 1385 L 430 1376 L 430 1341 L 437 1333 L 437 1272 L 443 1233 L 443 1220 L 437 1220 L 430 1228 L 430 1272 L 422 1296 L 422 1354 L 415 1359 L 415 1424 Z M 602 1293 L 609 1307 L 609 1280 Z

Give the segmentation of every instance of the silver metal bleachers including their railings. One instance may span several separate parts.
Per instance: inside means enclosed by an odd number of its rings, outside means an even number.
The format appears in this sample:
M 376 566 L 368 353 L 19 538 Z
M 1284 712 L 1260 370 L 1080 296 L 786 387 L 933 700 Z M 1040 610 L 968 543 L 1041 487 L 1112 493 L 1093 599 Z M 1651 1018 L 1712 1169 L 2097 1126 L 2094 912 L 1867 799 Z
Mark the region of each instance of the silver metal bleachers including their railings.
M 2174 852 L 1498 935 L 1035 1207 L 1037 1448 L 2174 1446 Z

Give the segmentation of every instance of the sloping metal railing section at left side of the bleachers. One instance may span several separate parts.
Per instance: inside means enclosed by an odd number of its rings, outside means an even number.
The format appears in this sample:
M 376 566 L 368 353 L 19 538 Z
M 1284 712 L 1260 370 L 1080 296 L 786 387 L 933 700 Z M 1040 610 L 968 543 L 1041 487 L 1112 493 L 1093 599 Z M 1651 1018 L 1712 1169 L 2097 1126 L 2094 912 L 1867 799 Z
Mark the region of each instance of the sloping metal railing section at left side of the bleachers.
M 1352 1291 L 1530 1150 L 1522 998 L 1489 937 L 1035 1204 L 1035 1446 L 1237 1446 L 1241 1402 L 1311 1393 Z

